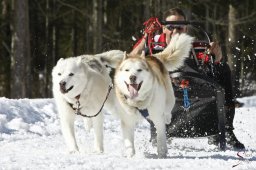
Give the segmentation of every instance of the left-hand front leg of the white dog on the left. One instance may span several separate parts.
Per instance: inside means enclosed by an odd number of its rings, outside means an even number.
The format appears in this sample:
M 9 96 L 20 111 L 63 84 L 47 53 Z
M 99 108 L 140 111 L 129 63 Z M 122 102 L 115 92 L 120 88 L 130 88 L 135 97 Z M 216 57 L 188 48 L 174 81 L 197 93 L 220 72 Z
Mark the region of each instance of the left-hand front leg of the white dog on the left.
M 75 114 L 70 113 L 61 113 L 60 115 L 60 123 L 61 130 L 66 141 L 66 145 L 68 146 L 69 153 L 78 152 L 78 147 L 75 139 L 74 132 L 74 121 Z

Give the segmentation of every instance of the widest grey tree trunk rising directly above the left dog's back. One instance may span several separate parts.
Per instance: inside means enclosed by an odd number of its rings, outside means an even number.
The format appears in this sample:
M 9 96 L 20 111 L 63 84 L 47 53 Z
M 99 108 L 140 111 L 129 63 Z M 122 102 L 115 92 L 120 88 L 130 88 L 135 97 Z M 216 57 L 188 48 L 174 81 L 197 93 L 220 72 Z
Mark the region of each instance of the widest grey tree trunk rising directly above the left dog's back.
M 102 0 L 93 1 L 93 53 L 101 51 L 102 46 Z

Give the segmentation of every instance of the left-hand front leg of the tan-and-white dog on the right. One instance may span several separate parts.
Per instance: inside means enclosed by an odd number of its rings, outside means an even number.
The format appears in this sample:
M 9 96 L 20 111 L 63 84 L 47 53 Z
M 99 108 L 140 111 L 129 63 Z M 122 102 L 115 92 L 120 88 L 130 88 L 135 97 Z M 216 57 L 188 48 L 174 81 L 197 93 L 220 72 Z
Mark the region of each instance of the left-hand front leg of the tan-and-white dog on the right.
M 135 154 L 135 149 L 134 149 L 135 123 L 133 122 L 127 123 L 122 120 L 121 127 L 122 127 L 124 147 L 125 147 L 125 156 L 130 158 Z

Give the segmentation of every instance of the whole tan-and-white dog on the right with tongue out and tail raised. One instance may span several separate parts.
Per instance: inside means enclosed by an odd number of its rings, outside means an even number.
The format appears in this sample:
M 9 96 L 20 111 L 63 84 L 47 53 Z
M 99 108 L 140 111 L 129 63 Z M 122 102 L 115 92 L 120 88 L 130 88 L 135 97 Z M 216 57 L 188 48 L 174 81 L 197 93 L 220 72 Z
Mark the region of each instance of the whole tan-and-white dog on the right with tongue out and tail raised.
M 183 65 L 192 41 L 192 37 L 180 34 L 172 38 L 163 52 L 154 56 L 124 54 L 114 82 L 117 98 L 126 112 L 121 118 L 121 127 L 128 157 L 135 154 L 134 128 L 139 117 L 153 121 L 157 130 L 158 157 L 166 157 L 165 124 L 170 123 L 175 104 L 168 71 Z

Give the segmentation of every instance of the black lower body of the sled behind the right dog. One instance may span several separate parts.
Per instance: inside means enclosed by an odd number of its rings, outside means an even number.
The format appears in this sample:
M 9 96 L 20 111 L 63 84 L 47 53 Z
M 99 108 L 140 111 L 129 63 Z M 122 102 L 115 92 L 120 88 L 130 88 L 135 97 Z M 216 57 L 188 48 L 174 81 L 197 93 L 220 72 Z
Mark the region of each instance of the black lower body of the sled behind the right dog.
M 209 77 L 195 72 L 175 72 L 170 77 L 174 81 L 176 104 L 172 122 L 166 127 L 167 137 L 219 135 L 219 147 L 225 150 L 224 89 Z M 184 80 L 190 84 L 187 108 L 184 107 L 184 89 L 179 85 Z

